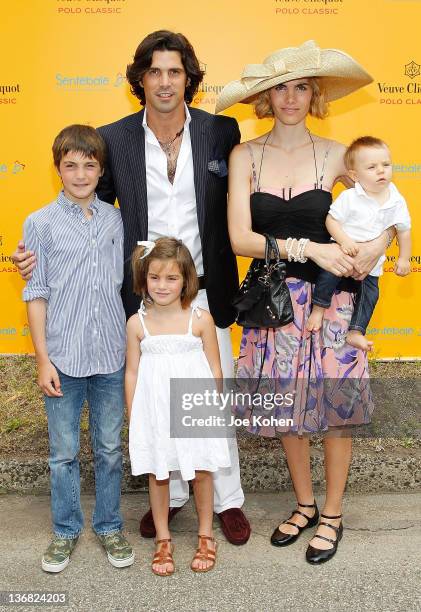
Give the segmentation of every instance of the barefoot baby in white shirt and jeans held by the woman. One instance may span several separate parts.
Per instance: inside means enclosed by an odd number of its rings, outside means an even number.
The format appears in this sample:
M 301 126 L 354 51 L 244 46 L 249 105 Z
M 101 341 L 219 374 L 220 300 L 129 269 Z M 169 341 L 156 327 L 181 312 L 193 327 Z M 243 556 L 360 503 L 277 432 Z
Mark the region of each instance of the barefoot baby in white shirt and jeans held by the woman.
M 386 143 L 378 138 L 363 136 L 354 140 L 345 153 L 345 166 L 355 187 L 340 194 L 329 210 L 326 227 L 346 255 L 358 253 L 358 242 L 377 238 L 385 229 L 395 226 L 399 258 L 395 266 L 398 276 L 410 271 L 411 220 L 403 196 L 392 180 L 392 161 Z M 365 338 L 368 323 L 379 297 L 379 276 L 383 274 L 380 257 L 370 274 L 361 281 L 346 341 L 355 348 L 371 351 L 373 343 Z M 330 272 L 319 274 L 313 292 L 313 310 L 307 329 L 318 331 L 323 311 L 339 282 Z

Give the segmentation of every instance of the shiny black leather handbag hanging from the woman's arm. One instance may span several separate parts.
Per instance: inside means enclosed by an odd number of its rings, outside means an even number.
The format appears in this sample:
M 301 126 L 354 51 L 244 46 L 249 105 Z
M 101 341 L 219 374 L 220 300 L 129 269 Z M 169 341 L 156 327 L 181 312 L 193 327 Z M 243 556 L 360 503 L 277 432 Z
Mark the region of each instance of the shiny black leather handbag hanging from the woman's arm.
M 253 259 L 232 305 L 236 322 L 243 327 L 281 327 L 294 319 L 291 296 L 285 282 L 286 265 L 281 261 L 273 236 L 264 234 L 264 259 Z

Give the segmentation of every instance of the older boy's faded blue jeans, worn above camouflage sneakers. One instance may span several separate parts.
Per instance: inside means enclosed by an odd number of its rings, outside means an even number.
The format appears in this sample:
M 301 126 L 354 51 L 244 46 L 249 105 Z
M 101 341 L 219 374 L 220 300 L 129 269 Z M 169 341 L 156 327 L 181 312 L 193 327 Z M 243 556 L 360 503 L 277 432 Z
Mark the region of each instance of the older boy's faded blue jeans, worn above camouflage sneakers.
M 50 439 L 51 514 L 54 533 L 75 538 L 83 528 L 80 504 L 80 417 L 85 400 L 95 468 L 95 509 L 92 526 L 97 534 L 122 528 L 121 426 L 124 415 L 124 368 L 112 374 L 83 378 L 57 370 L 63 397 L 45 396 Z

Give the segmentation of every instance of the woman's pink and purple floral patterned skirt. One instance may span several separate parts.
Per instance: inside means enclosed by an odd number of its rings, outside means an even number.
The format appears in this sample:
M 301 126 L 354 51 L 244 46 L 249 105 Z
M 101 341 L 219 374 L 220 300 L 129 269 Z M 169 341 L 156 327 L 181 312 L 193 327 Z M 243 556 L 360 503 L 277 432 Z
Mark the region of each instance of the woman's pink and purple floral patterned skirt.
M 296 278 L 287 279 L 287 284 L 294 321 L 269 330 L 244 328 L 237 369 L 240 388 L 256 388 L 257 383 L 261 397 L 278 393 L 278 402 L 272 407 L 271 402 L 269 407 L 261 402 L 256 407 L 254 401 L 237 404 L 236 415 L 248 419 L 250 432 L 263 436 L 343 432 L 370 423 L 373 401 L 367 355 L 345 341 L 352 294 L 336 292 L 324 312 L 322 329 L 311 333 L 306 321 L 312 285 Z

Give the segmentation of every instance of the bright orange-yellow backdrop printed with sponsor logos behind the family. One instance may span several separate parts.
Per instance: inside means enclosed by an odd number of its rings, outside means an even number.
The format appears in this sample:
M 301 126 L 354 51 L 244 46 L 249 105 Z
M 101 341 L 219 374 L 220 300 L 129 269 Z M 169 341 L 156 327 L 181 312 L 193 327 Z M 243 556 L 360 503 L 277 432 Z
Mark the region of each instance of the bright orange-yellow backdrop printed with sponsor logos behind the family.
M 51 144 L 70 123 L 93 126 L 138 110 L 124 79 L 140 40 L 153 30 L 181 31 L 206 65 L 194 105 L 213 112 L 218 91 L 246 63 L 315 39 L 346 50 L 374 76 L 364 90 L 334 102 L 316 133 L 349 143 L 362 134 L 386 140 L 394 180 L 413 219 L 412 274 L 393 272 L 388 252 L 381 301 L 370 324 L 378 358 L 420 357 L 421 47 L 414 24 L 421 3 L 405 0 L 6 0 L 0 49 L 0 353 L 32 352 L 21 302 L 23 283 L 10 261 L 25 217 L 50 202 L 60 183 Z M 412 33 L 411 33 L 412 32 Z M 229 114 L 243 139 L 268 129 L 251 108 Z M 336 193 L 336 192 L 335 192 Z M 240 261 L 244 273 L 248 262 Z M 239 331 L 233 329 L 238 346 Z

